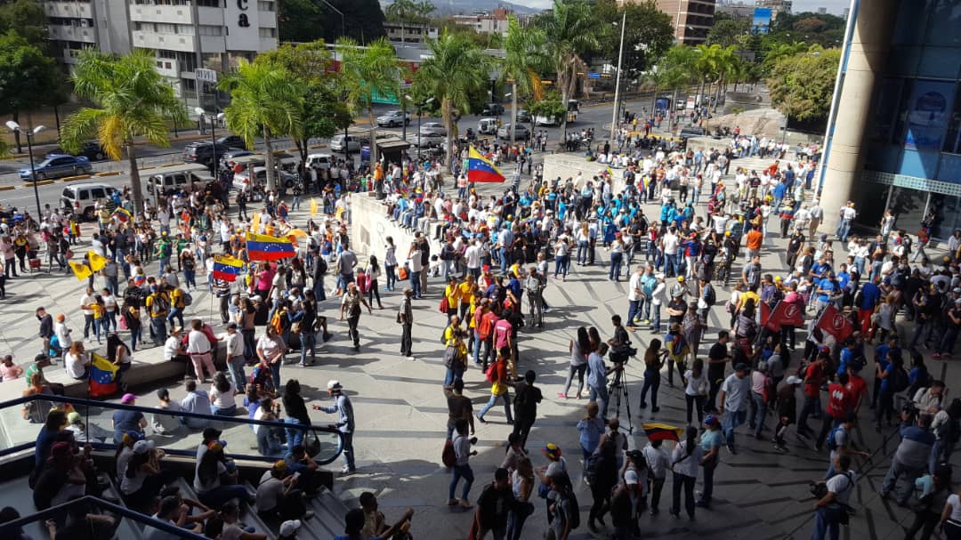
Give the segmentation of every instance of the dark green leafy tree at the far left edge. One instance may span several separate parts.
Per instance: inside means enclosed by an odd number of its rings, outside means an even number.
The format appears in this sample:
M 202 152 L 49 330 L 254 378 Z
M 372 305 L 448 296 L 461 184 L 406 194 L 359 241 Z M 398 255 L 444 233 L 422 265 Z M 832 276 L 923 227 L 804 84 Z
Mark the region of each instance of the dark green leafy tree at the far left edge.
M 34 110 L 51 97 L 61 79 L 56 62 L 15 31 L 0 35 L 0 114 L 12 114 L 18 122 L 21 111 Z M 20 153 L 20 134 L 14 134 Z

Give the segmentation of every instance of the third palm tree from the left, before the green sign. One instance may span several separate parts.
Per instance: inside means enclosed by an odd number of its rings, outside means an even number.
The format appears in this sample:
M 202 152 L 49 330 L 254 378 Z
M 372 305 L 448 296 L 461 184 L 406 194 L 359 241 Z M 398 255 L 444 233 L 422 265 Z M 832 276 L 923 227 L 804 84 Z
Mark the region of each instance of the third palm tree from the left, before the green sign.
M 378 161 L 377 121 L 374 117 L 374 98 L 401 95 L 401 64 L 386 37 L 380 37 L 365 47 L 358 47 L 350 37 L 337 39 L 340 52 L 341 81 L 347 91 L 347 103 L 355 111 L 367 110 L 370 120 L 370 158 Z

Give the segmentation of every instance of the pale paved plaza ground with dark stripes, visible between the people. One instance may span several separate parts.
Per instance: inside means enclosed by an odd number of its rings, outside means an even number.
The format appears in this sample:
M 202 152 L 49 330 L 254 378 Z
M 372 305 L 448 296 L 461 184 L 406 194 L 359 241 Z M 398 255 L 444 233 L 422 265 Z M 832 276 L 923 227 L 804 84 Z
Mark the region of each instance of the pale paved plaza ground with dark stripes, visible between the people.
M 733 165 L 737 166 L 742 161 L 735 160 Z M 752 161 L 758 165 L 762 162 Z M 734 167 L 731 168 L 733 170 Z M 485 188 L 485 192 L 493 191 L 493 187 Z M 304 207 L 307 209 L 309 205 L 306 203 Z M 659 211 L 655 205 L 647 205 L 644 209 L 649 216 L 657 215 Z M 703 205 L 698 211 L 703 214 Z M 306 210 L 293 213 L 293 221 L 297 225 L 303 226 L 307 218 Z M 85 226 L 86 241 L 92 230 L 92 225 Z M 774 233 L 776 227 L 771 227 L 771 230 L 774 238 L 766 239 L 762 267 L 765 273 L 783 274 L 783 242 Z M 837 247 L 839 252 L 843 251 L 840 246 Z M 74 251 L 83 254 L 86 246 L 79 246 Z M 370 254 L 358 255 L 365 258 Z M 374 255 L 382 258 L 382 252 Z M 635 255 L 635 264 L 643 262 L 643 259 L 643 253 Z M 837 259 L 843 260 L 842 257 Z M 597 327 L 606 339 L 611 335 L 610 316 L 615 313 L 627 316 L 628 284 L 626 280 L 616 283 L 607 281 L 607 260 L 606 252 L 599 247 L 597 264 L 583 267 L 572 265 L 566 282 L 551 280 L 545 291 L 551 309 L 545 315 L 544 328 L 524 329 L 520 333 L 520 369 L 532 369 L 537 373 L 536 383 L 545 396 L 544 402 L 538 407 L 537 421 L 528 441 L 535 468 L 546 463 L 540 449 L 546 443 L 553 442 L 563 450 L 572 472 L 579 471 L 580 452 L 575 425 L 584 415 L 587 402 L 577 399 L 564 401 L 556 395 L 563 389 L 570 358 L 568 343 L 575 337 L 578 327 Z M 739 273 L 743 258 L 735 264 L 735 271 Z M 634 268 L 631 266 L 631 270 Z M 146 269 L 156 273 L 156 262 L 146 265 Z M 198 282 L 203 281 L 198 279 Z M 669 280 L 669 283 L 673 282 Z M 97 284 L 99 286 L 99 280 Z M 399 284 L 403 288 L 403 282 Z M 327 285 L 328 289 L 333 285 L 330 275 Z M 62 273 L 39 273 L 8 281 L 8 298 L 0 302 L 0 354 L 12 352 L 18 363 L 37 354 L 40 342 L 34 311 L 39 306 L 46 307 L 53 314 L 66 314 L 74 334 L 82 333 L 80 297 L 85 286 L 86 282 L 78 282 L 72 275 Z M 416 513 L 411 533 L 415 538 L 459 540 L 467 537 L 471 514 L 445 505 L 451 477 L 440 463 L 447 423 L 447 405 L 441 391 L 444 379 L 443 351 L 438 340 L 446 325 L 445 316 L 437 310 L 442 287 L 439 279 L 431 278 L 425 300 L 414 302 L 414 359 L 399 354 L 400 327 L 395 322 L 395 313 L 402 296 L 400 292 L 382 292 L 384 309 L 361 315 L 361 350 L 357 354 L 347 338 L 346 323 L 335 322 L 338 300 L 329 299 L 322 303 L 320 314 L 327 315 L 332 322 L 333 339 L 318 346 L 316 366 L 299 368 L 292 364 L 285 365 L 282 378 L 300 380 L 306 386 L 305 397 L 314 403 L 328 400 L 322 389 L 326 387 L 327 380 L 337 379 L 343 383 L 354 402 L 358 472 L 354 476 L 336 479 L 336 493 L 350 501 L 363 491 L 373 491 L 378 495 L 388 521 L 398 518 L 405 507 L 414 508 Z M 216 308 L 206 289 L 193 292 L 193 296 L 193 306 L 187 308 L 186 315 L 203 317 L 211 324 L 216 323 L 217 331 L 222 331 Z M 728 316 L 723 311 L 727 298 L 727 289 L 719 289 L 716 307 L 709 317 L 710 328 L 705 332 L 705 342 L 702 343 L 701 356 L 706 356 L 716 332 L 728 329 Z M 647 330 L 631 334 L 633 346 L 639 350 L 643 350 L 652 337 L 653 333 Z M 138 351 L 135 360 L 140 356 L 160 354 L 160 348 L 146 349 Z M 797 368 L 800 355 L 801 347 L 792 356 L 789 369 Z M 874 370 L 870 368 L 873 352 L 869 352 L 868 356 L 869 369 L 865 370 L 864 375 L 870 386 L 874 378 Z M 293 355 L 288 359 L 295 361 Z M 928 365 L 936 378 L 948 381 L 949 388 L 961 382 L 959 368 L 954 362 L 931 360 Z M 62 369 L 62 365 L 51 369 Z M 628 362 L 625 373 L 631 405 L 629 415 L 626 404 L 621 404 L 619 409 L 622 427 L 627 428 L 628 424 L 633 427 L 633 433 L 628 437 L 631 448 L 641 448 L 647 442 L 640 429 L 643 422 L 656 421 L 674 426 L 683 426 L 685 423 L 683 389 L 679 384 L 675 388 L 669 387 L 666 379 L 662 380 L 660 388 L 660 411 L 657 414 L 653 414 L 650 408 L 643 413 L 639 411 L 642 372 L 643 362 L 640 358 Z M 464 379 L 465 395 L 473 400 L 477 410 L 489 398 L 490 384 L 484 381 L 480 369 L 473 364 Z M 3 384 L 11 383 L 22 385 L 22 381 Z M 183 397 L 181 384 L 170 382 L 170 388 L 174 399 Z M 151 397 L 138 405 L 149 406 L 153 402 Z M 611 411 L 616 406 L 616 400 L 612 400 Z M 881 501 L 877 494 L 880 480 L 890 462 L 889 456 L 896 449 L 899 439 L 893 434 L 894 429 L 885 428 L 882 434 L 875 433 L 868 419 L 870 412 L 866 406 L 862 407 L 855 439 L 862 448 L 871 452 L 871 457 L 855 458 L 856 471 L 861 478 L 851 501 L 857 514 L 852 517 L 850 528 L 843 528 L 842 534 L 845 538 L 858 539 L 901 538 L 902 527 L 911 523 L 913 513 L 891 501 Z M 311 410 L 310 413 L 319 425 L 328 424 L 333 419 L 320 411 Z M 494 469 L 503 458 L 505 439 L 510 432 L 502 405 L 492 408 L 486 420 L 487 424 L 477 424 L 477 436 L 480 439 L 477 449 L 480 454 L 471 459 L 476 477 L 471 491 L 472 501 L 480 495 L 482 487 L 493 479 Z M 640 520 L 643 537 L 752 540 L 810 537 L 814 523 L 814 500 L 808 491 L 808 482 L 824 477 L 827 452 L 815 452 L 813 443 L 799 439 L 794 435 L 793 428 L 789 430 L 787 439 L 790 452 L 777 452 L 768 441 L 775 424 L 774 417 L 769 416 L 768 436 L 764 440 L 750 437 L 747 426 L 738 430 L 739 453 L 732 455 L 727 450 L 722 451 L 721 465 L 715 475 L 712 507 L 699 508 L 696 521 L 689 521 L 686 517 L 675 519 L 668 514 L 672 489 L 669 479 L 661 499 L 661 513 L 656 517 L 645 514 Z M 820 427 L 820 421 L 812 422 L 812 427 Z M 338 460 L 330 468 L 339 470 L 340 465 Z M 579 475 L 573 474 L 572 478 L 577 480 Z M 585 513 L 581 518 L 581 527 L 571 537 L 578 540 L 605 537 L 587 530 L 586 511 L 591 504 L 591 496 L 582 482 L 577 482 L 577 494 L 581 510 Z M 547 528 L 545 508 L 540 500 L 533 503 L 536 509 L 527 521 L 523 537 L 540 539 Z M 609 527 L 606 530 L 612 531 Z

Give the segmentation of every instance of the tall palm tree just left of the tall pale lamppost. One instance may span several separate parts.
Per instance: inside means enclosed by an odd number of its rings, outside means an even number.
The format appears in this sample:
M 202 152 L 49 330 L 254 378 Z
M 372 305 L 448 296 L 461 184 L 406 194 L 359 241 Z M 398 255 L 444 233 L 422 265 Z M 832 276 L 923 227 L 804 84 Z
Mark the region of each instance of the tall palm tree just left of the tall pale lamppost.
M 554 9 L 544 18 L 544 33 L 547 35 L 548 54 L 554 62 L 557 74 L 557 87 L 560 88 L 564 107 L 574 95 L 577 84 L 587 71 L 580 55 L 597 50 L 601 46 L 598 39 L 597 23 L 592 8 L 583 0 L 554 0 Z M 561 140 L 567 136 L 567 114 L 561 120 Z

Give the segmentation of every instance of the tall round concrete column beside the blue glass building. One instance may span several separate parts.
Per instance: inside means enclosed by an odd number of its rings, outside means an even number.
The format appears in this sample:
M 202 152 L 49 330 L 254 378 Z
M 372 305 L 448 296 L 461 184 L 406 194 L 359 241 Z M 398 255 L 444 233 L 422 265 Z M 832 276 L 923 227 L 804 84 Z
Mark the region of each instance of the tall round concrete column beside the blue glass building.
M 825 209 L 822 230 L 825 233 L 832 233 L 836 229 L 838 210 L 848 201 L 858 203 L 860 198 L 858 183 L 864 166 L 864 134 L 870 120 L 875 81 L 884 72 L 890 55 L 899 1 L 906 0 L 852 2 L 856 6 L 850 16 L 856 18 L 841 99 L 834 125 L 830 127 L 833 133 L 825 157 L 825 183 L 821 194 L 821 207 Z M 841 62 L 844 66 L 844 57 Z

